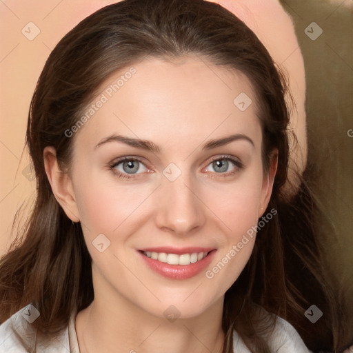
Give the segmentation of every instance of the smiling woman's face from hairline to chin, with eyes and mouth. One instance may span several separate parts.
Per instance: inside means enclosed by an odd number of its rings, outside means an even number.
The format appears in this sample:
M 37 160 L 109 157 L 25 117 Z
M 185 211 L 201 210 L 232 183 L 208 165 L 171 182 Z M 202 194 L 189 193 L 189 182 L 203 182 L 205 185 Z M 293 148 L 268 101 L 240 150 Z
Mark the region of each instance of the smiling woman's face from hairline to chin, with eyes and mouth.
M 276 168 L 263 174 L 250 83 L 199 57 L 145 59 L 92 105 L 68 132 L 61 205 L 81 221 L 94 300 L 182 317 L 220 303 L 250 258 Z

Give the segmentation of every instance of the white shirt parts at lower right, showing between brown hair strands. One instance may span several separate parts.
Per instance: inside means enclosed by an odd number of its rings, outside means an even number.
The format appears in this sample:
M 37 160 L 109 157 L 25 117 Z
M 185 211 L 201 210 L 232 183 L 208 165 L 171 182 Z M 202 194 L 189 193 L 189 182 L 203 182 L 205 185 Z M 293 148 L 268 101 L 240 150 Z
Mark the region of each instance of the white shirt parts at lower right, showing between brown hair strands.
M 276 325 L 274 330 L 266 336 L 266 341 L 270 345 L 271 352 L 276 353 L 311 353 L 307 349 L 305 343 L 296 332 L 294 327 L 288 322 L 276 316 Z M 245 346 L 241 338 L 236 332 L 233 336 L 234 352 L 249 353 L 248 347 Z

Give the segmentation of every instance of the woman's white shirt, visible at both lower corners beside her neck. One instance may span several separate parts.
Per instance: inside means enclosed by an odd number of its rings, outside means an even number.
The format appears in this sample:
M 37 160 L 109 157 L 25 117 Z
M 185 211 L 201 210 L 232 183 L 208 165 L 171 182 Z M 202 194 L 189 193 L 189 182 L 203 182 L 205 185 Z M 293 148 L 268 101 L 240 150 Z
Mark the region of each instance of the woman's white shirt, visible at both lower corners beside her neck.
M 68 327 L 58 336 L 48 339 L 35 330 L 31 321 L 33 306 L 27 305 L 0 325 L 0 353 L 80 353 L 72 315 Z M 32 319 L 31 319 L 32 316 Z M 33 322 L 33 321 L 32 321 Z M 288 321 L 277 318 L 274 331 L 270 335 L 271 352 L 310 353 L 298 332 Z M 241 338 L 234 331 L 234 353 L 250 353 Z

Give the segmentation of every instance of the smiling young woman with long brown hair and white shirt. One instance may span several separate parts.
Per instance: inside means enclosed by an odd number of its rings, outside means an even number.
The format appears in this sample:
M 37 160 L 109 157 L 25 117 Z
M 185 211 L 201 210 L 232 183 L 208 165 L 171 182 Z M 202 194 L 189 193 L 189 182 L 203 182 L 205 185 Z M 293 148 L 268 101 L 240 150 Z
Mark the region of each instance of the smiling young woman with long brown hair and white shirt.
M 216 3 L 125 0 L 69 32 L 30 106 L 0 352 L 339 352 L 314 211 L 293 207 L 310 192 L 283 199 L 285 90 Z

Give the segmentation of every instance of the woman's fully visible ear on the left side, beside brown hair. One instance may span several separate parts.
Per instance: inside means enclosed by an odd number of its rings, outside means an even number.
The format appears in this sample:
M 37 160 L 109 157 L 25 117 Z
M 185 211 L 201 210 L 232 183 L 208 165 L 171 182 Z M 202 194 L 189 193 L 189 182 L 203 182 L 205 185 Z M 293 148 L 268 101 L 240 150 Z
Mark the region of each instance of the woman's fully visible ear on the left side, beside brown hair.
M 55 199 L 63 208 L 71 221 L 79 222 L 79 211 L 74 196 L 74 188 L 68 172 L 60 170 L 57 161 L 57 152 L 52 146 L 43 150 L 44 168 Z

